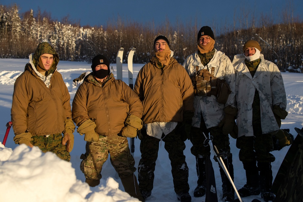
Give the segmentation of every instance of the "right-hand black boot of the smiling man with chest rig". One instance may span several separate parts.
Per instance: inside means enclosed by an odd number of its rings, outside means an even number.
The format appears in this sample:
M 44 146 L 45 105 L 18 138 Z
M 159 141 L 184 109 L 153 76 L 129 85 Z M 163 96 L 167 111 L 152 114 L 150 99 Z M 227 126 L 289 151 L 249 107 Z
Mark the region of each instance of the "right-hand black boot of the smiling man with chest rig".
M 228 157 L 227 159 L 223 159 L 223 162 L 225 164 L 225 167 L 231 177 L 231 180 L 234 181 L 234 167 L 232 165 L 232 156 Z M 229 181 L 227 175 L 224 172 L 224 168 L 220 167 L 220 174 L 222 179 L 222 191 L 223 191 L 223 197 L 222 200 L 224 202 L 228 201 L 231 202 L 235 199 L 235 190 L 232 187 L 231 182 Z

